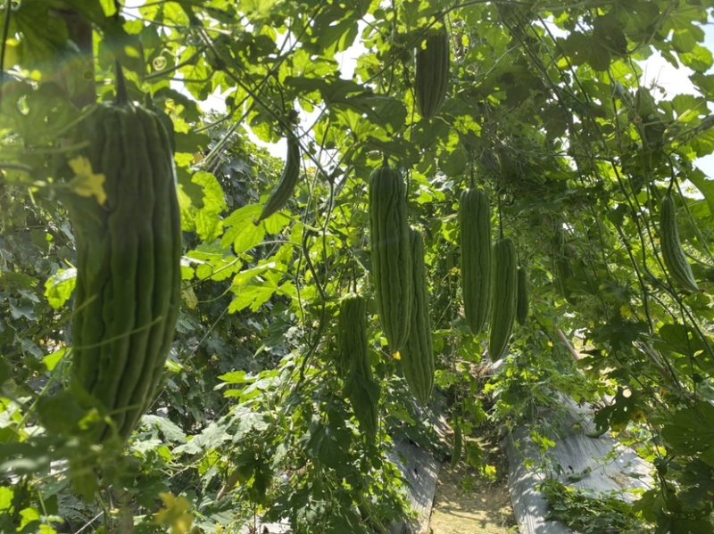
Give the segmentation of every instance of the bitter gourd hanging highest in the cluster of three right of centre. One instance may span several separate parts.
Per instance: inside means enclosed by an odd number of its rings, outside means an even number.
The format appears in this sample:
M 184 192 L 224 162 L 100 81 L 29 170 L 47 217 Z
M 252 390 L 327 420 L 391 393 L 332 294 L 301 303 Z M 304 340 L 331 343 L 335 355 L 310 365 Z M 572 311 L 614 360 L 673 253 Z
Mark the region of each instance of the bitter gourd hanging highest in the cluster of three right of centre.
M 466 322 L 474 335 L 486 325 L 491 292 L 491 209 L 486 193 L 469 188 L 459 202 L 461 293 Z

